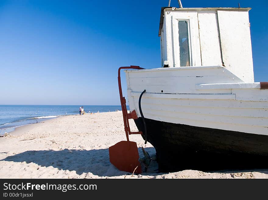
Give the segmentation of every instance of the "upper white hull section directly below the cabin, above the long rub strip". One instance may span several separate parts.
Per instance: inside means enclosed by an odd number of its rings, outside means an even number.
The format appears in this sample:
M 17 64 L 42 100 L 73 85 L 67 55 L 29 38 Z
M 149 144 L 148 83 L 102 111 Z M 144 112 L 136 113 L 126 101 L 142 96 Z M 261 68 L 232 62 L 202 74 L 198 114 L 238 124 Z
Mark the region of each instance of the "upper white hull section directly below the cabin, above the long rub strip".
M 196 84 L 242 82 L 222 66 L 157 68 L 127 72 L 129 72 L 131 88 L 136 92 L 146 89 L 149 93 L 231 94 L 231 89 L 202 90 L 200 92 L 196 89 Z

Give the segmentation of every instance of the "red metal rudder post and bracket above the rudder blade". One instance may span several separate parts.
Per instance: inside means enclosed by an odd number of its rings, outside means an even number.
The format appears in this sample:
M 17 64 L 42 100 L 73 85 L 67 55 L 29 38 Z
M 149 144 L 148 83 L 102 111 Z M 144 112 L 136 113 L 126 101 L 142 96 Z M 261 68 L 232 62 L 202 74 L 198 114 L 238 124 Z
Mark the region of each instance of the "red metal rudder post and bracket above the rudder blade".
M 129 141 L 129 135 L 131 134 L 141 134 L 141 131 L 138 132 L 131 132 L 129 128 L 129 119 L 138 119 L 138 116 L 136 114 L 136 111 L 132 111 L 128 113 L 127 107 L 126 107 L 126 100 L 125 97 L 122 94 L 122 86 L 121 86 L 121 78 L 120 78 L 120 70 L 121 69 L 144 69 L 139 66 L 130 65 L 130 67 L 119 67 L 118 69 L 118 87 L 119 87 L 119 95 L 120 95 L 120 102 L 122 107 L 122 113 L 123 113 L 123 119 L 124 119 L 124 126 L 125 126 L 125 133 L 127 137 L 127 141 Z

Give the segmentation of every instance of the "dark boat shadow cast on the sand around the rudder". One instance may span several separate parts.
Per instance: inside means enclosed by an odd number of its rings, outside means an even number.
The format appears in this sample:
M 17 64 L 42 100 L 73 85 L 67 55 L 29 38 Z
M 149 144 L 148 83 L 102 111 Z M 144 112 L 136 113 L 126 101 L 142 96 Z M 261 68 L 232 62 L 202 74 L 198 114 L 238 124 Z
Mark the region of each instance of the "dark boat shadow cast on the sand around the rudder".
M 144 148 L 150 155 L 155 154 L 153 147 Z M 138 148 L 139 155 L 143 156 L 142 148 Z M 118 170 L 109 160 L 108 149 L 77 150 L 63 149 L 60 151 L 38 150 L 25 151 L 14 156 L 8 156 L 0 161 L 36 163 L 41 167 L 54 167 L 59 170 L 76 171 L 76 174 L 92 173 L 97 176 L 121 176 L 131 174 Z M 144 166 L 142 166 L 144 170 Z M 152 175 L 158 172 L 156 161 L 151 161 L 146 173 Z

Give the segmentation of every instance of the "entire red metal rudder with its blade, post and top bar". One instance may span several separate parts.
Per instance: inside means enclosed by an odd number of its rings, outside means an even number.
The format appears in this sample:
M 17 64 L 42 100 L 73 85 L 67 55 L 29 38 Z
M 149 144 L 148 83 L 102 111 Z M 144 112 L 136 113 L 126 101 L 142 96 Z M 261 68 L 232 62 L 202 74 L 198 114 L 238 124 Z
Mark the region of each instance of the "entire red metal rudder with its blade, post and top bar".
M 118 87 L 119 87 L 120 102 L 122 107 L 127 141 L 121 141 L 109 147 L 110 162 L 121 171 L 127 171 L 133 173 L 134 170 L 136 169 L 135 173 L 140 174 L 142 170 L 141 165 L 139 163 L 139 152 L 137 148 L 137 143 L 129 141 L 129 135 L 142 134 L 142 132 L 130 131 L 129 119 L 137 119 L 138 116 L 135 110 L 132 111 L 131 113 L 127 112 L 126 100 L 122 94 L 122 87 L 121 87 L 121 78 L 120 78 L 121 69 L 143 69 L 143 68 L 131 65 L 130 67 L 119 67 L 118 69 Z

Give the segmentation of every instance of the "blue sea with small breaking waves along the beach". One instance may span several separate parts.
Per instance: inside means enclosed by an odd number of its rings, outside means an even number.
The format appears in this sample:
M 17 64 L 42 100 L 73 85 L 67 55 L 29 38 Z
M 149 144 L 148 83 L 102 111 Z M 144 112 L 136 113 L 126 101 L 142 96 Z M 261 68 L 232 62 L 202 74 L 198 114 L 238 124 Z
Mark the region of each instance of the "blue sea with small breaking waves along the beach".
M 53 119 L 64 115 L 79 114 L 81 105 L 0 105 L 0 135 L 15 128 Z M 83 105 L 86 113 L 122 111 L 118 106 Z M 129 106 L 127 106 L 129 110 Z

